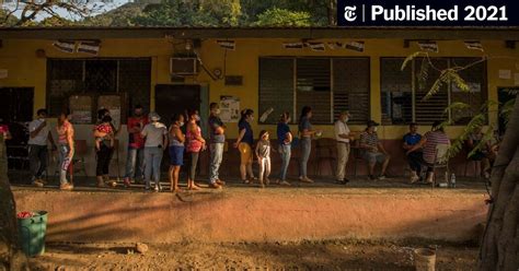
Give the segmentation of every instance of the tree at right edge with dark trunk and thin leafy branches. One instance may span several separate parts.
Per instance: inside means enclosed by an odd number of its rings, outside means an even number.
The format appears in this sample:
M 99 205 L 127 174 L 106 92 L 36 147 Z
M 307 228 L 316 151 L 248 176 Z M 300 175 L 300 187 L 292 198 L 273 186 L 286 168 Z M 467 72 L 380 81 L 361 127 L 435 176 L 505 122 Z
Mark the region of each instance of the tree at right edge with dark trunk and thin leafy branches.
M 427 52 L 418 51 L 404 60 L 402 70 L 411 60 L 419 56 L 423 56 L 423 59 L 420 72 L 417 75 L 418 84 L 427 78 L 427 67 L 437 69 L 432 66 Z M 482 60 L 464 67 L 438 69 L 440 75 L 424 99 L 435 95 L 442 84 L 448 83 L 454 83 L 458 89 L 468 92 L 469 85 L 459 75 L 459 72 L 487 59 L 489 57 L 486 56 Z M 517 95 L 516 99 L 505 104 L 499 113 L 508 118 L 508 125 L 489 180 L 492 192 L 487 200 L 489 204 L 487 223 L 480 249 L 480 270 L 519 270 L 519 94 L 517 92 L 515 94 Z M 468 134 L 485 125 L 486 115 L 493 106 L 495 106 L 495 102 L 486 103 L 482 106 L 480 114 L 472 117 L 463 132 L 454 140 L 449 150 L 449 156 L 455 155 L 461 150 L 461 144 Z M 447 107 L 446 111 L 466 107 L 466 104 L 454 103 Z M 442 126 L 449 123 L 450 121 L 445 121 Z M 482 142 L 474 146 L 469 156 L 482 148 L 486 140 L 489 140 L 488 134 L 492 133 L 492 130 L 491 126 Z

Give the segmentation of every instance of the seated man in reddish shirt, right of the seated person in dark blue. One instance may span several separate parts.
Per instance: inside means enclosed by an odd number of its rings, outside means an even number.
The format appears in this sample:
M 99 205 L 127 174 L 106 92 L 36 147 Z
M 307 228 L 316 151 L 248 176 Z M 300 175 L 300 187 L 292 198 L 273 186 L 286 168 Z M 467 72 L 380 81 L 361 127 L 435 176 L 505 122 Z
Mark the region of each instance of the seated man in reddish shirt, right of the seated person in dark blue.
M 432 164 L 436 161 L 436 146 L 438 144 L 450 145 L 449 137 L 447 137 L 443 127 L 440 127 L 441 121 L 437 120 L 432 123 L 430 131 L 426 132 L 418 144 L 411 148 L 406 155 L 423 149 L 423 162 L 427 164 L 427 182 L 432 182 L 435 173 L 432 172 Z

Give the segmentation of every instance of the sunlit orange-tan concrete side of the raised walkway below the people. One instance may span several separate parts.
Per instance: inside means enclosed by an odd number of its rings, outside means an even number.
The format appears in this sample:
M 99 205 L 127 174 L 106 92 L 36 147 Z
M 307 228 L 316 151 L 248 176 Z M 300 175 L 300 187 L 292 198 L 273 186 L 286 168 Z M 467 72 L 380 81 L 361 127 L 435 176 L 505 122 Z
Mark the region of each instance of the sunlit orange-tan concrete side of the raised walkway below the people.
M 470 239 L 481 191 L 230 189 L 143 193 L 14 191 L 18 210 L 46 210 L 49 241 L 266 241 L 327 238 Z

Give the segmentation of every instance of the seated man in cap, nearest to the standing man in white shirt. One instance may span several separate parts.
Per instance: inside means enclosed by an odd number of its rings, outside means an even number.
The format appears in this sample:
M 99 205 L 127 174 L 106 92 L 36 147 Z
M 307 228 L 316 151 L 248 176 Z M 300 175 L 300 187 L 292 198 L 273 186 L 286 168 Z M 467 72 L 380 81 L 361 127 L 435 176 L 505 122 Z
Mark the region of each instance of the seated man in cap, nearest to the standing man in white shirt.
M 368 128 L 366 131 L 360 133 L 360 149 L 364 149 L 362 157 L 368 162 L 369 165 L 369 178 L 374 178 L 374 165 L 378 163 L 382 164 L 382 170 L 379 179 L 385 179 L 385 169 L 390 161 L 390 155 L 385 152 L 384 146 L 380 143 L 379 137 L 377 136 L 377 127 L 379 123 L 373 120 L 368 121 Z

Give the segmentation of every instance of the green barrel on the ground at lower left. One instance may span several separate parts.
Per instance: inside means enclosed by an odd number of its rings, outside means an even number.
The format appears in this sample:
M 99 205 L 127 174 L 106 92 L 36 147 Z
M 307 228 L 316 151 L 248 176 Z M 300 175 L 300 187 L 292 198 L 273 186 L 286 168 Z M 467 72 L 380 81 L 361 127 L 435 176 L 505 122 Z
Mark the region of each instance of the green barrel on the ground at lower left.
M 35 211 L 34 216 L 18 219 L 20 245 L 28 257 L 45 252 L 45 234 L 47 232 L 47 212 Z

